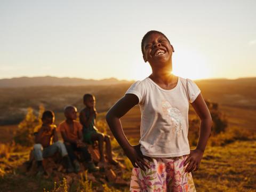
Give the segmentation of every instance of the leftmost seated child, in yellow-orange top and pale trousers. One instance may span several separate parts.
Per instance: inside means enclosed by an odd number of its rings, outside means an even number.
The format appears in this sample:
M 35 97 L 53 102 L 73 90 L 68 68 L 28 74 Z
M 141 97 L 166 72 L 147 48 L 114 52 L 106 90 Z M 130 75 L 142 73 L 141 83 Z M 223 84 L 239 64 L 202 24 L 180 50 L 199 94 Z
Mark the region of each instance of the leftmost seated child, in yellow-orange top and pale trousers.
M 44 168 L 42 164 L 43 158 L 51 157 L 57 153 L 57 151 L 61 154 L 63 161 L 65 162 L 67 172 L 72 172 L 73 170 L 66 147 L 61 141 L 58 140 L 56 125 L 53 124 L 54 113 L 50 110 L 44 111 L 42 122 L 42 126 L 40 126 L 39 129 L 35 131 L 36 144 L 34 145 L 34 156 L 38 166 L 37 175 L 44 174 Z M 52 145 L 51 139 L 54 142 Z

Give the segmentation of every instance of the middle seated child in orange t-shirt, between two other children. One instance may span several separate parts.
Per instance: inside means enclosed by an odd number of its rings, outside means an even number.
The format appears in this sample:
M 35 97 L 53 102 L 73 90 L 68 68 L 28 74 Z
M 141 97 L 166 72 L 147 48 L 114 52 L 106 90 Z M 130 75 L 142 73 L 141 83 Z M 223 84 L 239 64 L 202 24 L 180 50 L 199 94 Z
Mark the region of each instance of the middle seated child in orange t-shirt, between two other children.
M 67 106 L 64 114 L 66 121 L 60 123 L 58 129 L 61 132 L 69 158 L 75 166 L 75 172 L 79 172 L 80 166 L 74 151 L 82 152 L 84 160 L 87 162 L 86 167 L 89 172 L 98 171 L 99 167 L 94 165 L 91 154 L 85 143 L 83 143 L 82 125 L 75 121 L 77 118 L 77 109 L 74 106 Z

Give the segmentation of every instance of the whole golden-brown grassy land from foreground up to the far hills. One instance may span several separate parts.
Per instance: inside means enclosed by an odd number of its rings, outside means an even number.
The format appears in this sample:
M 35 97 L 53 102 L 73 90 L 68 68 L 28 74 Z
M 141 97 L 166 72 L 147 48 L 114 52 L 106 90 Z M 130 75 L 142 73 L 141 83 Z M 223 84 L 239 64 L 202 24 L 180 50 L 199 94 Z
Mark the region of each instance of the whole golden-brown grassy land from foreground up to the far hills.
M 212 81 L 196 81 L 206 100 L 210 100 L 214 105 L 218 105 L 218 114 L 225 114 L 228 127 L 225 133 L 212 135 L 206 147 L 201 166 L 198 171 L 193 172 L 194 182 L 197 191 L 255 191 L 256 181 L 254 177 L 255 164 L 255 137 L 250 137 L 255 132 L 256 101 L 255 79 L 214 79 Z M 17 129 L 18 119 L 23 119 L 27 107 L 32 107 L 37 113 L 38 106 L 44 105 L 46 109 L 51 109 L 56 114 L 55 123 L 58 124 L 64 119 L 63 107 L 75 105 L 78 110 L 82 109 L 82 96 L 84 93 L 93 93 L 97 99 L 98 121 L 97 127 L 106 127 L 102 121 L 106 111 L 119 99 L 131 83 L 117 85 L 95 85 L 95 86 L 34 86 L 19 88 L 2 88 L 0 100 L 0 122 L 5 122 L 5 126 L 0 126 L 0 140 L 10 142 L 15 129 Z M 234 96 L 236 95 L 236 96 Z M 237 96 L 239 95 L 239 96 Z M 241 102 L 243 100 L 249 102 Z M 208 102 L 207 102 L 208 103 Z M 210 108 L 211 110 L 211 108 Z M 213 111 L 214 113 L 214 111 Z M 212 115 L 213 115 L 212 113 Z M 195 148 L 195 141 L 198 138 L 198 122 L 195 120 L 195 111 L 189 110 L 189 142 L 191 149 Z M 15 119 L 16 118 L 16 119 Z M 17 121 L 16 125 L 8 125 L 9 122 Z M 140 138 L 140 109 L 134 107 L 121 119 L 123 129 L 127 138 L 133 145 L 138 143 Z M 250 130 L 252 132 L 247 132 Z M 108 134 L 110 130 L 106 130 Z M 129 161 L 125 158 L 123 151 L 112 141 L 113 150 L 118 157 L 125 159 L 123 162 L 129 167 Z M 17 169 L 28 159 L 29 151 L 23 152 L 18 149 L 11 150 L 9 144 L 2 144 L 2 157 L 0 155 L 0 173 L 4 177 L 0 178 L 0 188 L 6 191 L 20 191 L 22 187 L 25 191 L 42 191 L 43 188 L 50 190 L 54 186 L 54 181 L 60 178 L 50 177 L 36 179 L 31 175 L 22 173 Z M 14 146 L 17 148 L 18 146 Z M 1 172 L 2 171 L 2 172 Z M 123 174 L 118 177 L 124 179 L 123 186 L 107 182 L 108 187 L 115 187 L 120 191 L 129 190 L 131 170 L 123 170 Z M 62 175 L 63 176 L 63 175 Z M 66 177 L 74 175 L 66 175 Z M 69 177 L 69 178 L 70 178 Z M 98 179 L 97 175 L 95 178 Z M 70 181 L 70 182 L 71 182 Z M 93 180 L 92 180 L 93 181 Z M 59 185 L 60 182 L 57 182 Z M 103 186 L 105 180 L 93 181 L 93 187 Z M 14 185 L 15 184 L 15 185 Z M 70 184 L 71 185 L 71 184 Z M 70 186 L 70 191 L 77 191 L 76 185 Z M 84 189 L 85 190 L 85 189 Z M 84 191 L 83 190 L 83 191 Z M 79 190 L 78 190 L 79 191 Z M 85 190 L 86 191 L 86 190 Z M 97 190 L 97 191 L 117 191 L 117 190 Z

